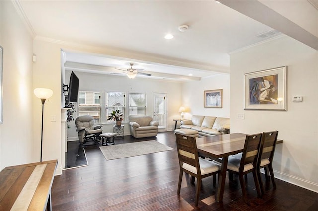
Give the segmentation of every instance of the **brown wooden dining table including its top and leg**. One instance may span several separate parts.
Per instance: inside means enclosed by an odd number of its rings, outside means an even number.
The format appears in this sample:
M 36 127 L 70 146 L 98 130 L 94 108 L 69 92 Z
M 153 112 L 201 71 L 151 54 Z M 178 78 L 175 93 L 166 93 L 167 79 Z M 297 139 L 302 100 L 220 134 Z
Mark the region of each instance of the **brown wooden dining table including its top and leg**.
M 221 163 L 221 172 L 219 173 L 219 184 L 215 200 L 223 200 L 225 178 L 227 174 L 228 158 L 243 152 L 246 135 L 244 133 L 230 133 L 217 136 L 199 137 L 196 139 L 197 150 L 200 156 L 210 158 Z M 277 140 L 276 144 L 282 143 Z

